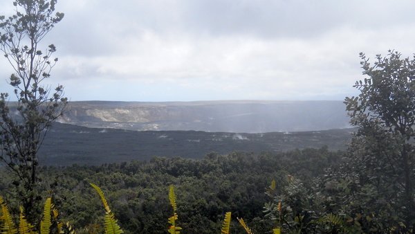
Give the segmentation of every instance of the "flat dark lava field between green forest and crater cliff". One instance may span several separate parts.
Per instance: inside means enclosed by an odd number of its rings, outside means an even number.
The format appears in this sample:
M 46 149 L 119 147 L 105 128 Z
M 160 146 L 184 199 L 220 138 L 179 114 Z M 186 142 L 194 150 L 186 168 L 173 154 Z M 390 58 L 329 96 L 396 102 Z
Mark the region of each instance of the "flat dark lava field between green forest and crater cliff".
M 88 128 L 55 123 L 39 150 L 41 165 L 102 165 L 152 156 L 203 159 L 205 154 L 284 152 L 295 148 L 322 147 L 344 150 L 353 129 L 258 134 L 200 131 L 131 131 Z

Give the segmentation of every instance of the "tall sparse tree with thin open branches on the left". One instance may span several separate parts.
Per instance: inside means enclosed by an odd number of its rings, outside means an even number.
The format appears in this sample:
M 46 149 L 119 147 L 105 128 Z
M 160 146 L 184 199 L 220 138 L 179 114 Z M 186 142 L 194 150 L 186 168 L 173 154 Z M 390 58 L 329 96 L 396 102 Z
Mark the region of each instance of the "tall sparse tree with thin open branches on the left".
M 26 217 L 37 222 L 37 207 L 41 197 L 37 192 L 39 165 L 37 152 L 54 120 L 67 104 L 64 88 L 54 91 L 42 82 L 50 77 L 57 58 L 51 55 L 53 44 L 46 51 L 40 42 L 53 26 L 62 20 L 56 12 L 57 0 L 17 0 L 15 15 L 0 16 L 0 50 L 15 73 L 8 83 L 14 88 L 17 102 L 9 102 L 8 93 L 0 95 L 0 160 L 15 174 L 13 181 Z

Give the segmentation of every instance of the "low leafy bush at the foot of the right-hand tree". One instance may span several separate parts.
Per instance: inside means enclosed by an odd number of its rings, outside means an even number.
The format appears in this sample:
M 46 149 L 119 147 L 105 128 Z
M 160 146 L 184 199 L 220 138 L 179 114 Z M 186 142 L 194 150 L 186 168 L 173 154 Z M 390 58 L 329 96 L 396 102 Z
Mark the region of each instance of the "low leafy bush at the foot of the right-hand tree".
M 273 186 L 270 186 L 273 187 Z M 288 177 L 283 192 L 268 191 L 273 201 L 265 205 L 266 217 L 275 220 L 275 232 L 288 233 L 361 233 L 360 223 L 349 217 L 328 213 L 334 204 L 320 188 L 307 188 L 302 181 Z M 338 199 L 336 201 L 342 201 Z M 340 206 L 342 206 L 340 204 Z M 339 212 L 337 210 L 337 212 Z M 340 213 L 340 212 L 339 212 Z

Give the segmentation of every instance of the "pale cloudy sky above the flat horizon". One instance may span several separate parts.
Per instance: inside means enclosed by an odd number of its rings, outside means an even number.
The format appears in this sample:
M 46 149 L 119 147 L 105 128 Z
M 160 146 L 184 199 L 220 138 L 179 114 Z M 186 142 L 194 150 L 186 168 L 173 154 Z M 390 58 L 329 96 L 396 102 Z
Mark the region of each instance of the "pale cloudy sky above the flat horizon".
M 69 100 L 344 100 L 374 61 L 415 53 L 413 0 L 58 0 L 44 84 Z M 0 15 L 13 14 L 12 0 Z M 0 57 L 0 91 L 12 69 Z

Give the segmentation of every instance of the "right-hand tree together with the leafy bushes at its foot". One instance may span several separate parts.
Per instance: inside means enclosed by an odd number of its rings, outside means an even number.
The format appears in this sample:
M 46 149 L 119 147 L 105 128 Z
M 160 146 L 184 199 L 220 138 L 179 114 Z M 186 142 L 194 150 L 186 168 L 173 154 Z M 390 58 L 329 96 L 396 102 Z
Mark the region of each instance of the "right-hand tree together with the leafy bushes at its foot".
M 342 163 L 303 183 L 290 177 L 282 192 L 267 190 L 273 201 L 267 217 L 286 232 L 412 233 L 415 216 L 415 58 L 389 51 L 374 66 L 364 54 L 361 93 L 346 98 L 357 128 Z M 279 205 L 282 204 L 281 210 Z

